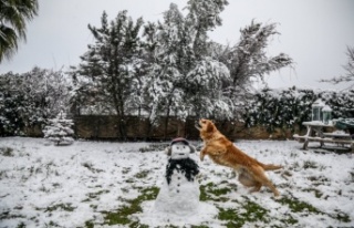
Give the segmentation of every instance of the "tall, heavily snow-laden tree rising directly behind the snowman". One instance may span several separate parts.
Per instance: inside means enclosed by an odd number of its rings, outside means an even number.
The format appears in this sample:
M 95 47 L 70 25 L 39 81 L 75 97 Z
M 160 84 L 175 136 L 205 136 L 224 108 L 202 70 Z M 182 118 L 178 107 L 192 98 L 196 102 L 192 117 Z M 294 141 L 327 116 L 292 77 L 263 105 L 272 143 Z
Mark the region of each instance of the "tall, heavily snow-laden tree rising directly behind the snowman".
M 211 116 L 209 114 L 216 114 L 215 110 L 218 113 L 230 110 L 220 108 L 227 105 L 218 100 L 220 83 L 215 83 L 218 79 L 227 79 L 228 70 L 209 58 L 206 49 L 210 42 L 207 32 L 221 24 L 219 13 L 226 4 L 227 1 L 190 0 L 186 17 L 176 4 L 170 4 L 164 13 L 163 23 L 155 29 L 157 42 L 154 45 L 147 93 L 154 101 L 153 120 L 162 113 L 166 116 L 167 126 L 171 112 L 180 120 L 186 120 L 190 114 Z M 207 73 L 204 80 L 209 82 L 197 79 L 201 72 Z

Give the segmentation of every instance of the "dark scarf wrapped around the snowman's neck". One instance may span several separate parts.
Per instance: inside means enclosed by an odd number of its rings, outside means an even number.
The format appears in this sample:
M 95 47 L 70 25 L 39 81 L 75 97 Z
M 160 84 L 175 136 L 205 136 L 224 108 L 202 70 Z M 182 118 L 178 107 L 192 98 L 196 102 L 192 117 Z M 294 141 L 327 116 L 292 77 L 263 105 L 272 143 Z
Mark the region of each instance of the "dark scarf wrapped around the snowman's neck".
M 183 159 L 168 159 L 168 164 L 166 166 L 166 179 L 167 184 L 170 183 L 170 177 L 174 174 L 174 170 L 178 173 L 183 173 L 188 182 L 194 182 L 194 177 L 199 174 L 199 166 L 192 159 L 183 158 Z

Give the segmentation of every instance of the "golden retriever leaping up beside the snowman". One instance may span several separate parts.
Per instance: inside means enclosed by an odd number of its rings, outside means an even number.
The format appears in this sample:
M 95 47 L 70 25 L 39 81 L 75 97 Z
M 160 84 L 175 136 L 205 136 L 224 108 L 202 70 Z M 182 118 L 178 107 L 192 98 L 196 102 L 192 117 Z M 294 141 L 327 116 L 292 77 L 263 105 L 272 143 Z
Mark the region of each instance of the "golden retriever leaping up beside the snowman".
M 200 160 L 208 155 L 216 164 L 233 168 L 239 174 L 239 182 L 242 185 L 253 187 L 251 193 L 259 191 L 264 185 L 273 191 L 274 196 L 279 196 L 278 189 L 264 170 L 275 170 L 282 166 L 266 165 L 248 156 L 223 136 L 209 120 L 201 118 L 196 127 L 205 144 L 200 151 Z

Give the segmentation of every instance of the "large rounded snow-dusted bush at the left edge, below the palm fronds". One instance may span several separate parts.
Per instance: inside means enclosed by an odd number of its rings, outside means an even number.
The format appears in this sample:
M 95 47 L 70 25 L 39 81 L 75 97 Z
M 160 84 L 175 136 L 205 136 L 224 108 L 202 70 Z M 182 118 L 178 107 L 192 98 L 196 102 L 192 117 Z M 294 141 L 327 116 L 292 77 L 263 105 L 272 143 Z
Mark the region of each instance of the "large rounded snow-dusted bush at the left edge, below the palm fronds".
M 23 135 L 25 127 L 54 117 L 60 105 L 69 106 L 71 86 L 61 71 L 33 68 L 0 75 L 0 134 Z

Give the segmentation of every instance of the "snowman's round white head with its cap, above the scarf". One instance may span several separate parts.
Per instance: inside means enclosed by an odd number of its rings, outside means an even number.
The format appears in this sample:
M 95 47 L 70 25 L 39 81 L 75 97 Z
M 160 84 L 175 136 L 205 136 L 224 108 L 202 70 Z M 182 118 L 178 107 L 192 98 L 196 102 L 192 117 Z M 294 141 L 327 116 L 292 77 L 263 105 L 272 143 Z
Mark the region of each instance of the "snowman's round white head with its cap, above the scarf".
M 169 155 L 171 159 L 188 158 L 191 153 L 195 153 L 195 147 L 181 137 L 175 138 L 166 148 L 166 154 Z

